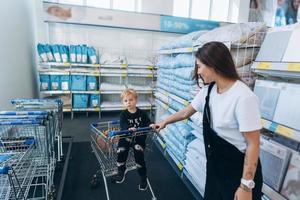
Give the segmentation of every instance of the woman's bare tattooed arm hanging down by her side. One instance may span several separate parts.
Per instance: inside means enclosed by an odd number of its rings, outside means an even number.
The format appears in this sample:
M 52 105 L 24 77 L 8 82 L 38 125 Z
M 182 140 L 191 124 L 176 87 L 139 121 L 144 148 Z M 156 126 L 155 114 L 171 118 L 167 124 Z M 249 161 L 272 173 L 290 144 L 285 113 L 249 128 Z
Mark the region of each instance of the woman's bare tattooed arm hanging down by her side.
M 243 176 L 246 180 L 253 180 L 256 172 L 259 148 L 260 148 L 260 131 L 244 132 L 246 138 L 247 149 L 244 159 Z M 240 185 L 235 193 L 235 200 L 252 200 L 252 190 L 244 185 Z

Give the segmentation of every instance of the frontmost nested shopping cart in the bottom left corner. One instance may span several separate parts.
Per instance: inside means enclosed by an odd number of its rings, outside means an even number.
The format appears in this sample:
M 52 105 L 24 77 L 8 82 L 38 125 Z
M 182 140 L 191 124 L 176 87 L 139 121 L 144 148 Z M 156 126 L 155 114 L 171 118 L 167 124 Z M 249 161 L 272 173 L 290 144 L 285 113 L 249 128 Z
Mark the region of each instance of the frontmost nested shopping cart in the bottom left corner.
M 34 138 L 10 138 L 0 147 L 0 199 L 27 199 L 36 169 Z

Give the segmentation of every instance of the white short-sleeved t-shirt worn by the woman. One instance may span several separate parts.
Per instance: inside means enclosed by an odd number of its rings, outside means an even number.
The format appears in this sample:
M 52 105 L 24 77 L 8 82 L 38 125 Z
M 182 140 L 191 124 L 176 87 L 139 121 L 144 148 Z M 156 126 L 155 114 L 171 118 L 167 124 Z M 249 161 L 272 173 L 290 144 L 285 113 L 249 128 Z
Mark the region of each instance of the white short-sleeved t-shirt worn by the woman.
M 204 111 L 207 91 L 208 86 L 203 87 L 193 99 L 191 105 L 195 110 Z M 241 152 L 245 152 L 246 139 L 242 132 L 262 128 L 257 96 L 241 81 L 236 81 L 222 94 L 217 92 L 215 84 L 210 93 L 209 108 L 213 130 Z

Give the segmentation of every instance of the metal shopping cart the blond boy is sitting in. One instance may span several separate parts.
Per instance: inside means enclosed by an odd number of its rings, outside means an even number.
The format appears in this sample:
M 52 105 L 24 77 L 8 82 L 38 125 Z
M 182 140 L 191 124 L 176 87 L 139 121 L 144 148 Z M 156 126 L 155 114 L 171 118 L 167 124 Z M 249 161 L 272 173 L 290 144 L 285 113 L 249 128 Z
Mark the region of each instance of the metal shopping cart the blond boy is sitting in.
M 109 122 L 100 122 L 91 124 L 91 147 L 92 150 L 100 164 L 100 169 L 92 177 L 91 184 L 96 185 L 99 182 L 100 177 L 102 176 L 106 198 L 109 197 L 109 190 L 107 179 L 112 178 L 118 173 L 117 168 L 117 147 L 118 140 L 121 138 L 130 138 L 131 141 L 134 141 L 136 137 L 147 135 L 146 139 L 146 148 L 144 150 L 145 158 L 147 153 L 153 146 L 153 139 L 155 137 L 154 131 L 149 128 L 138 128 L 137 131 L 132 132 L 128 130 L 120 130 L 119 121 L 109 121 Z M 127 171 L 137 169 L 134 154 L 132 149 L 128 153 L 128 158 L 126 162 Z M 157 198 L 154 195 L 149 179 L 147 178 L 147 184 L 152 195 L 152 200 Z

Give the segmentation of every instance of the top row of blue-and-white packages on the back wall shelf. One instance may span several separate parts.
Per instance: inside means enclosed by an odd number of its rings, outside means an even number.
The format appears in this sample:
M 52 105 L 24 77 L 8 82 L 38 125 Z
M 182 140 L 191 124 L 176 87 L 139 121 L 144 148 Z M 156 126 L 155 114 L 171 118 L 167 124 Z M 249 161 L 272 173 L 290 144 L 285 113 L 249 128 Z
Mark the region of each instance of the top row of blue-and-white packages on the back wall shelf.
M 87 45 L 41 44 L 37 51 L 42 62 L 98 63 L 96 50 Z

